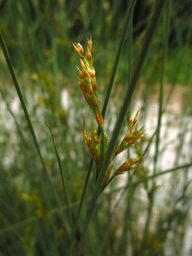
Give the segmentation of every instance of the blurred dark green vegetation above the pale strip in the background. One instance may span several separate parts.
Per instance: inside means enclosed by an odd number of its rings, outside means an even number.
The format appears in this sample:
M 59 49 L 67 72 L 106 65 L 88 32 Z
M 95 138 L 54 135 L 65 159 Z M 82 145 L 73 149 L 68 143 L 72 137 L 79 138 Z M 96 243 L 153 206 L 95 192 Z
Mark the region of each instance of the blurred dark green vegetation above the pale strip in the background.
M 77 57 L 72 42 L 86 43 L 92 35 L 97 76 L 111 70 L 129 1 L 1 1 L 1 29 L 18 72 L 39 72 L 42 68 L 63 76 L 76 77 Z M 191 4 L 175 1 L 170 25 L 166 79 L 172 83 L 175 65 L 182 58 L 177 83 L 191 84 Z M 140 49 L 152 12 L 152 1 L 137 1 L 133 13 L 133 51 Z M 180 26 L 182 24 L 182 26 Z M 162 28 L 156 33 L 148 72 L 152 83 L 161 72 Z M 127 44 L 120 60 L 120 82 L 126 81 Z M 95 51 L 95 52 L 94 52 Z M 182 53 L 181 53 L 182 52 Z M 135 55 L 136 56 L 136 55 Z M 177 61 L 175 61 L 177 60 Z M 133 60 L 134 61 L 134 60 Z M 105 63 L 105 65 L 103 65 Z M 2 63 L 1 63 L 2 65 Z M 67 68 L 65 68 L 67 67 Z M 149 68 L 151 67 L 151 69 Z M 188 68 L 186 68 L 188 67 Z M 155 75 L 155 76 L 154 76 Z M 146 76 L 146 75 L 145 75 Z

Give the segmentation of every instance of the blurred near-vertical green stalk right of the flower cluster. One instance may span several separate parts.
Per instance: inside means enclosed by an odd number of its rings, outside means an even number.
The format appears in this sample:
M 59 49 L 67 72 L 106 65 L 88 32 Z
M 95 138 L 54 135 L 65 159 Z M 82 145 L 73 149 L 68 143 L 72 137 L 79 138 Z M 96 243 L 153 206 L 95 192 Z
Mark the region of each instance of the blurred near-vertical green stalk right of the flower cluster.
M 158 159 L 158 151 L 159 151 L 159 140 L 160 140 L 160 131 L 161 131 L 161 120 L 163 115 L 163 90 L 164 90 L 164 70 L 166 65 L 166 57 L 168 51 L 168 35 L 169 35 L 169 26 L 170 26 L 170 11 L 171 11 L 171 1 L 168 0 L 166 3 L 166 8 L 164 9 L 163 15 L 163 64 L 161 69 L 161 85 L 160 85 L 160 92 L 159 92 L 159 115 L 157 121 L 157 136 L 156 136 L 156 152 L 154 156 L 154 170 L 153 174 L 156 175 L 157 170 L 157 159 Z M 153 187 L 155 186 L 155 182 L 153 180 Z M 154 205 L 154 189 L 152 189 L 152 193 L 150 194 L 150 203 L 148 205 L 148 213 L 147 213 L 147 220 L 145 223 L 145 229 L 143 232 L 143 239 L 141 241 L 141 251 L 145 246 L 145 242 L 148 235 L 148 229 L 150 226 L 150 220 L 152 217 L 152 208 Z

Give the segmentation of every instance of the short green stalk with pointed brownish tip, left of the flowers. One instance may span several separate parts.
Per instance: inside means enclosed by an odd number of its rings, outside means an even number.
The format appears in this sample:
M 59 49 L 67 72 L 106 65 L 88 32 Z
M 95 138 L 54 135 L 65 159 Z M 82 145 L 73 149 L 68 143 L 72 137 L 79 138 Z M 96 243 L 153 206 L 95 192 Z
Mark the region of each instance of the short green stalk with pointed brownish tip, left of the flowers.
M 69 219 L 70 219 L 70 221 L 72 223 L 72 212 L 71 212 L 70 205 L 69 205 L 68 191 L 67 191 L 67 186 L 66 186 L 66 181 L 65 181 L 65 175 L 64 175 L 64 172 L 63 172 L 62 164 L 61 164 L 60 154 L 58 152 L 58 147 L 56 145 L 56 141 L 54 140 L 54 135 L 52 134 L 51 127 L 49 127 L 48 124 L 46 124 L 46 125 L 49 128 L 49 131 L 51 132 L 52 142 L 53 142 L 54 150 L 55 150 L 56 157 L 57 157 L 57 160 L 58 160 L 58 166 L 60 168 L 60 174 L 61 174 L 61 180 L 62 180 L 62 184 L 63 184 L 63 189 L 65 191 L 65 198 L 66 198 L 66 203 L 67 203 L 68 217 L 69 217 Z

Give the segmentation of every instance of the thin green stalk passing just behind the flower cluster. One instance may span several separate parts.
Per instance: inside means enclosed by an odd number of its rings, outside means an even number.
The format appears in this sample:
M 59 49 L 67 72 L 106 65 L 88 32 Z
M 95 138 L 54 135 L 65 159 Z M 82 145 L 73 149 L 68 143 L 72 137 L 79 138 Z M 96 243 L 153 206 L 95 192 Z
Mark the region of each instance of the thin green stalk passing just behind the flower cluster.
M 103 120 L 104 120 L 105 115 L 106 115 L 106 109 L 108 107 L 109 97 L 111 95 L 111 90 L 113 88 L 113 82 L 114 82 L 114 79 L 115 79 L 116 69 L 118 67 L 118 62 L 120 60 L 122 49 L 124 47 L 125 38 L 126 38 L 126 34 L 127 34 L 127 29 L 129 27 L 129 21 L 130 21 L 130 18 L 131 18 L 131 13 L 134 10 L 134 4 L 135 3 L 136 3 L 136 1 L 135 2 L 131 1 L 130 4 L 129 4 L 129 8 L 127 10 L 127 15 L 126 15 L 126 18 L 125 18 L 125 23 L 124 23 L 124 28 L 122 30 L 122 35 L 121 35 L 120 42 L 119 42 L 119 45 L 118 45 L 118 49 L 117 49 L 116 56 L 115 56 L 113 70 L 111 72 L 111 78 L 110 78 L 109 84 L 108 84 L 108 91 L 106 93 L 106 97 L 105 97 L 105 100 L 104 100 L 104 105 L 103 105 L 103 108 L 102 108 L 102 118 L 103 118 Z M 99 127 L 98 127 L 98 130 L 97 130 L 97 134 L 98 134 L 98 138 L 99 138 L 99 136 L 100 136 L 100 128 Z M 90 179 L 90 174 L 91 174 L 91 171 L 92 171 L 92 165 L 93 165 L 93 159 L 90 159 L 90 165 L 89 165 L 88 172 L 87 172 L 87 175 L 86 175 L 86 180 L 85 180 L 85 183 L 84 183 L 83 193 L 82 193 L 82 196 L 81 196 L 81 202 L 79 204 L 79 210 L 78 210 L 78 213 L 77 213 L 75 227 L 77 227 L 78 222 L 79 222 L 79 216 L 81 214 L 81 209 L 83 207 L 84 196 L 85 196 L 86 189 L 87 189 L 87 186 L 88 186 L 88 181 Z

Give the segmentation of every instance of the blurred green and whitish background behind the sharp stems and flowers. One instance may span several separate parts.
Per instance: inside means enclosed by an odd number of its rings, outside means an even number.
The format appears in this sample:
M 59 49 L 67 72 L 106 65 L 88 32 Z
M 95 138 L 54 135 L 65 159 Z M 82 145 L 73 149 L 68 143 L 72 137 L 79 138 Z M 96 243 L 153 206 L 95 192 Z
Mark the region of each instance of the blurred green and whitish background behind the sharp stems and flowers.
M 83 147 L 83 112 L 86 129 L 92 131 L 95 121 L 79 90 L 79 57 L 72 42 L 86 47 L 87 38 L 92 36 L 102 107 L 129 2 L 0 1 L 0 28 L 45 165 L 61 202 L 65 193 L 47 123 L 58 145 L 75 215 L 90 162 L 88 147 L 85 153 Z M 155 5 L 152 0 L 136 1 L 106 113 L 108 140 Z M 148 135 L 121 154 L 116 166 L 130 155 L 142 156 L 145 152 L 145 156 L 136 170 L 120 175 L 99 196 L 82 255 L 191 255 L 192 6 L 190 0 L 167 1 L 165 6 L 119 142 L 128 129 L 129 115 L 134 116 L 138 109 L 138 127 L 145 125 Z M 163 101 L 159 100 L 161 89 Z M 159 106 L 162 115 L 157 141 Z M 67 212 L 61 214 L 44 177 L 1 50 L 0 152 L 0 255 L 68 255 L 71 230 L 65 219 Z M 166 174 L 148 179 L 154 166 L 157 174 Z M 95 166 L 81 211 L 80 230 L 94 188 Z

